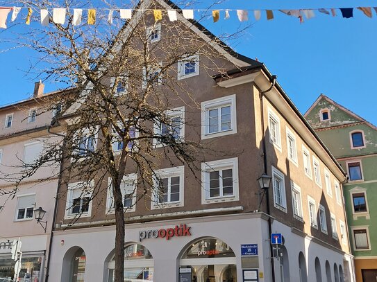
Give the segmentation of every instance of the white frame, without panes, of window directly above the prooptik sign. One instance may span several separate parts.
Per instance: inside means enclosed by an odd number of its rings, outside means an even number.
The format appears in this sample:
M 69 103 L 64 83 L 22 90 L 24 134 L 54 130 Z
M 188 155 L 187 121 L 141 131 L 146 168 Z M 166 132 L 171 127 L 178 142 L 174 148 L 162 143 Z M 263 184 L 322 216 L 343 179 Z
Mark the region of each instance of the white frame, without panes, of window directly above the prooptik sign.
M 165 208 L 172 208 L 176 206 L 183 206 L 185 203 L 184 199 L 184 186 L 185 186 L 185 166 L 177 166 L 175 168 L 163 168 L 160 170 L 156 170 L 154 172 L 156 176 L 162 178 L 171 178 L 171 177 L 179 177 L 179 201 L 175 202 L 158 202 L 158 179 L 154 177 L 153 179 L 153 195 L 151 201 L 151 209 L 165 209 Z M 170 186 L 168 188 L 170 191 Z M 169 192 L 168 192 L 169 193 Z

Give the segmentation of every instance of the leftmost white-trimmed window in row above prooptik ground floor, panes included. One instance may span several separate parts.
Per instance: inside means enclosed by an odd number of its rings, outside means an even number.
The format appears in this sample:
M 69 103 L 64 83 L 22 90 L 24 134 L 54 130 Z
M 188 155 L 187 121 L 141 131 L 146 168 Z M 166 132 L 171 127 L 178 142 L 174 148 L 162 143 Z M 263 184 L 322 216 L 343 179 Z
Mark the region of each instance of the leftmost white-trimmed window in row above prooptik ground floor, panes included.
M 76 182 L 68 184 L 65 218 L 84 218 L 92 213 L 92 191 L 94 182 Z

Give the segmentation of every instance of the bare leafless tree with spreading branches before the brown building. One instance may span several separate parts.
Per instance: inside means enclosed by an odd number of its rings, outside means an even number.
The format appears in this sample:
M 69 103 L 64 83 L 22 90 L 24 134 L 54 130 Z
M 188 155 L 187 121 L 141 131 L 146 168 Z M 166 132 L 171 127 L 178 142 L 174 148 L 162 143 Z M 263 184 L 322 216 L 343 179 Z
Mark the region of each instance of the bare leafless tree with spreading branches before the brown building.
M 46 0 L 24 3 L 37 12 L 57 6 Z M 81 1 L 63 5 L 90 8 L 90 3 Z M 106 2 L 102 5 L 114 8 Z M 115 13 L 108 24 L 102 18 L 108 15 L 99 10 L 97 24 L 78 26 L 72 9 L 67 9 L 64 25 L 50 19 L 49 26 L 33 28 L 16 42 L 38 55 L 31 73 L 65 83 L 69 91 L 49 97 L 44 109 L 58 109 L 50 132 L 63 138 L 46 141 L 42 155 L 33 164 L 23 164 L 26 170 L 1 177 L 16 183 L 15 194 L 17 185 L 41 166 L 60 164 L 58 197 L 65 199 L 73 182 L 82 191 L 67 207 L 74 211 L 70 224 L 87 211 L 89 202 L 106 205 L 110 188 L 116 224 L 116 282 L 124 281 L 125 209 L 146 198 L 161 206 L 167 202 L 166 185 L 156 173 L 161 164 L 184 164 L 195 176 L 206 154 L 225 154 L 211 150 L 210 141 L 201 141 L 200 121 L 183 118 L 185 112 L 201 109 L 196 87 L 190 85 L 193 80 L 181 78 L 199 71 L 200 76 L 214 76 L 239 66 L 226 60 L 232 54 L 219 37 L 184 19 L 181 11 L 178 21 L 169 21 L 167 8 L 178 9 L 169 1 L 142 1 L 126 23 Z M 153 10 L 162 11 L 162 19 L 156 20 Z M 187 126 L 191 130 L 183 134 Z M 122 182 L 130 173 L 137 173 L 136 191 L 122 195 Z M 128 204 L 131 195 L 135 201 Z

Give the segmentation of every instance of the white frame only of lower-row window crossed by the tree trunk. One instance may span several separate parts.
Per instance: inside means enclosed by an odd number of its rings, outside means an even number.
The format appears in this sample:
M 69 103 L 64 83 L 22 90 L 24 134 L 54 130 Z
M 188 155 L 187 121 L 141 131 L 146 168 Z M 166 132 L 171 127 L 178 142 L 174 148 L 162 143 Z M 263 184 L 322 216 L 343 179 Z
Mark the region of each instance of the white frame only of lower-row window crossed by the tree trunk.
M 126 185 L 131 184 L 133 185 L 133 195 L 132 195 L 132 204 L 131 208 L 124 206 L 124 197 L 128 191 L 126 191 Z M 133 212 L 136 209 L 136 187 L 137 187 L 137 173 L 131 173 L 129 175 L 124 175 L 122 178 L 121 183 L 121 192 L 122 192 L 122 202 L 124 206 L 125 212 Z M 106 213 L 112 214 L 115 213 L 114 209 L 114 198 L 112 197 L 112 179 L 108 177 L 108 194 L 107 194 L 107 201 L 106 201 Z

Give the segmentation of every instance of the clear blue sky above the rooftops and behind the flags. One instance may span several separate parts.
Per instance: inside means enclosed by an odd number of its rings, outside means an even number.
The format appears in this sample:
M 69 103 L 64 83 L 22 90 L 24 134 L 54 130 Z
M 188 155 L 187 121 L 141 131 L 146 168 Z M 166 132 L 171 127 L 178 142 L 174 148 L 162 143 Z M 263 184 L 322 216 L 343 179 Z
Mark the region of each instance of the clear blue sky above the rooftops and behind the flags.
M 210 1 L 203 1 L 203 8 Z M 2 6 L 6 2 L 0 1 Z M 339 9 L 337 17 L 324 15 L 315 10 L 315 17 L 299 19 L 274 11 L 275 18 L 267 21 L 265 9 L 299 8 L 348 8 L 377 6 L 377 1 L 270 1 L 232 0 L 218 8 L 262 10 L 262 17 L 255 21 L 249 11 L 249 21 L 240 24 L 235 11 L 231 19 L 212 23 L 208 18 L 201 23 L 213 33 L 234 33 L 237 28 L 249 26 L 244 33 L 229 44 L 242 55 L 258 58 L 271 73 L 278 76 L 278 82 L 299 110 L 304 113 L 323 93 L 337 103 L 377 125 L 377 91 L 374 81 L 377 76 L 377 15 L 373 10 L 371 19 L 360 10 L 353 12 L 351 19 L 342 18 Z M 195 12 L 196 17 L 199 16 Z M 19 26 L 18 28 L 33 28 Z M 0 30 L 2 37 L 12 37 L 17 30 Z M 0 44 L 0 105 L 22 100 L 33 92 L 33 76 L 26 76 L 30 52 L 26 49 L 4 50 Z M 56 85 L 46 85 L 53 91 Z

